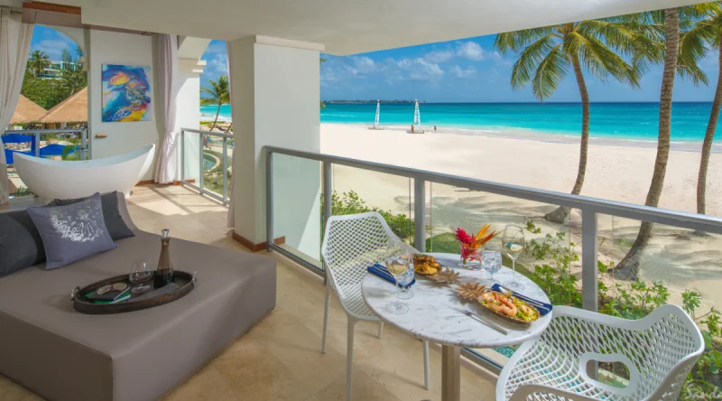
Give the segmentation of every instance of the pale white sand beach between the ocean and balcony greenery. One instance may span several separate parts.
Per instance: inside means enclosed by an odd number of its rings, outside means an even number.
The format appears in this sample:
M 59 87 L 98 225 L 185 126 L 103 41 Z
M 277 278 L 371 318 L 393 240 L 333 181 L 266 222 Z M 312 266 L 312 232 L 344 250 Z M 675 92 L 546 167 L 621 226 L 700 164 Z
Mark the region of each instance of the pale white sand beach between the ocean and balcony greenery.
M 577 175 L 579 140 L 569 136 L 495 134 L 424 134 L 373 131 L 365 126 L 321 124 L 321 152 L 377 163 L 402 165 L 481 180 L 504 182 L 550 191 L 569 192 Z M 694 212 L 699 169 L 699 144 L 672 145 L 660 207 Z M 715 150 L 709 162 L 707 211 L 722 214 L 722 154 Z M 652 179 L 656 143 L 610 139 L 590 140 L 588 167 L 582 195 L 643 204 Z M 334 189 L 356 191 L 369 206 L 412 216 L 412 188 L 408 179 L 355 168 L 334 168 Z M 430 194 L 430 195 L 429 195 Z M 495 228 L 533 220 L 546 233 L 570 233 L 566 240 L 581 251 L 579 211 L 569 225 L 555 226 L 542 219 L 554 206 L 504 196 L 432 185 L 427 191 L 429 235 L 457 227 L 477 229 L 486 222 Z M 616 262 L 636 238 L 639 222 L 599 217 L 600 260 Z M 570 238 L 570 239 L 569 239 Z M 689 230 L 655 227 L 643 259 L 641 279 L 660 280 L 670 287 L 671 301 L 679 303 L 685 289 L 719 304 L 722 294 L 722 238 L 696 237 Z M 529 261 L 531 262 L 531 261 Z M 579 275 L 579 263 L 572 266 Z M 602 277 L 607 284 L 615 281 Z

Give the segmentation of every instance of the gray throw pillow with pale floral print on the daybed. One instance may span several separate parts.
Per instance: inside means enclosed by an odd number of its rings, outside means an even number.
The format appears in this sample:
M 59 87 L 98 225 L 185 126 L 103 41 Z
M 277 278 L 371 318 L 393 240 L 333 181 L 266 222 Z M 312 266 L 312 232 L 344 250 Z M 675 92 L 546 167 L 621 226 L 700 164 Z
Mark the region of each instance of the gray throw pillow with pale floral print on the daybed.
M 28 208 L 28 213 L 42 237 L 48 270 L 118 246 L 107 232 L 100 194 L 65 206 Z

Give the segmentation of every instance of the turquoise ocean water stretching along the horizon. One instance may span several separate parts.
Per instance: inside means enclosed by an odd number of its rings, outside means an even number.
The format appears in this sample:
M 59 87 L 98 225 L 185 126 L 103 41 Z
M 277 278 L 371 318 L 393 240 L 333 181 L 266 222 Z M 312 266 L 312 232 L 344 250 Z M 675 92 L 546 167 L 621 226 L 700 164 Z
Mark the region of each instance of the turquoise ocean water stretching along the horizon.
M 442 132 L 528 131 L 536 134 L 579 136 L 579 103 L 421 103 L 421 123 L 427 129 L 438 126 Z M 672 107 L 671 140 L 702 141 L 707 129 L 710 102 L 676 102 Z M 215 117 L 217 107 L 201 107 L 204 119 Z M 371 126 L 375 103 L 329 104 L 320 111 L 321 123 Z M 591 136 L 656 140 L 658 103 L 592 103 Z M 230 119 L 230 106 L 221 107 L 220 116 Z M 413 104 L 381 104 L 382 126 L 408 128 L 413 120 Z M 716 139 L 720 137 L 717 128 Z

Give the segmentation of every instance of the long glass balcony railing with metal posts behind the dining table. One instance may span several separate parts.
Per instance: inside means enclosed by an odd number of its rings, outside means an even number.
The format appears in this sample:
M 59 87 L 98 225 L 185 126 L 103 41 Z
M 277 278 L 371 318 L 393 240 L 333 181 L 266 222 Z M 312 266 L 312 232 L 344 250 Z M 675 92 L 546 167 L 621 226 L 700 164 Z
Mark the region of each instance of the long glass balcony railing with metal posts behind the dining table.
M 301 228 L 304 236 L 314 238 L 303 244 L 296 240 L 298 248 L 287 243 L 272 244 L 270 249 L 317 274 L 325 275 L 317 239 L 322 236 L 322 221 L 332 214 L 385 210 L 384 219 L 394 232 L 420 251 L 454 254 L 459 252 L 453 234 L 458 227 L 518 225 L 527 247 L 517 269 L 540 285 L 552 303 L 626 319 L 642 318 L 662 303 L 675 303 L 689 312 L 703 332 L 707 350 L 681 398 L 722 395 L 717 378 L 722 362 L 717 310 L 722 309 L 722 296 L 716 291 L 722 284 L 722 219 L 326 154 L 270 146 L 265 152 L 267 179 L 273 182 L 267 193 L 267 219 L 283 216 L 284 220 L 283 225 L 268 227 L 268 238 L 288 236 Z M 308 168 L 281 169 L 287 158 Z M 319 197 L 320 202 L 296 202 L 288 190 L 281 190 L 281 182 L 292 182 L 293 191 L 308 191 L 303 200 Z M 569 210 L 561 223 L 544 218 L 560 206 Z M 649 233 L 643 238 L 643 251 L 630 254 L 640 228 Z M 629 255 L 634 260 L 620 264 Z M 511 266 L 505 257 L 504 266 Z M 466 355 L 486 367 L 502 368 L 513 353 L 510 347 L 467 350 Z M 599 363 L 596 371 L 603 383 L 625 387 L 624 365 Z

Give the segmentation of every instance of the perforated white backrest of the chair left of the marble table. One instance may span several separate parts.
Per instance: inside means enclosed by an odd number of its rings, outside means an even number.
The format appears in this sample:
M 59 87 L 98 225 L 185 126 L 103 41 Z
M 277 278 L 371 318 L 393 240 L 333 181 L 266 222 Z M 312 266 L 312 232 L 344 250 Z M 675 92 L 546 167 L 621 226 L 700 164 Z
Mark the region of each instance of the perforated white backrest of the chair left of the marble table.
M 393 238 L 397 237 L 375 211 L 329 218 L 321 255 L 345 309 L 347 299 L 360 296 L 366 268 L 384 260 Z

